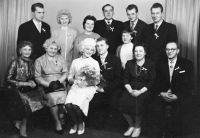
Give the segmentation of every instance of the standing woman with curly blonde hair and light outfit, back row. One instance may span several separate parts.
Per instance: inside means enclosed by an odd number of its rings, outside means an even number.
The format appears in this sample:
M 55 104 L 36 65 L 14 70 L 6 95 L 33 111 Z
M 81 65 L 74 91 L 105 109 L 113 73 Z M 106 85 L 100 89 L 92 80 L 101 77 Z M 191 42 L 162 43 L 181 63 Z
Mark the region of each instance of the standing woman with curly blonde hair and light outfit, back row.
M 73 43 L 77 36 L 77 32 L 68 27 L 72 22 L 72 16 L 68 9 L 62 9 L 58 12 L 57 22 L 61 27 L 54 30 L 51 37 L 61 43 L 61 55 L 67 61 L 69 69 L 72 62 Z

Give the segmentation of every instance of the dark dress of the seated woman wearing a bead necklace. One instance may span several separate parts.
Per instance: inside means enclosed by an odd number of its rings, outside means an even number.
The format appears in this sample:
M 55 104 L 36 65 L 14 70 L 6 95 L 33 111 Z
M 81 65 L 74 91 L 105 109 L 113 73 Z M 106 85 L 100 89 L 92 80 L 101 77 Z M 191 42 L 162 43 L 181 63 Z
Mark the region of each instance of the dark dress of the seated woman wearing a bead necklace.
M 142 105 L 150 96 L 151 87 L 155 77 L 155 63 L 149 59 L 145 59 L 145 63 L 141 67 L 136 64 L 135 59 L 129 60 L 126 63 L 123 74 L 124 85 L 129 84 L 133 90 L 140 90 L 141 88 L 146 87 L 148 91 L 138 97 L 133 97 L 125 89 L 120 98 L 120 111 L 122 113 L 130 115 L 142 114 Z

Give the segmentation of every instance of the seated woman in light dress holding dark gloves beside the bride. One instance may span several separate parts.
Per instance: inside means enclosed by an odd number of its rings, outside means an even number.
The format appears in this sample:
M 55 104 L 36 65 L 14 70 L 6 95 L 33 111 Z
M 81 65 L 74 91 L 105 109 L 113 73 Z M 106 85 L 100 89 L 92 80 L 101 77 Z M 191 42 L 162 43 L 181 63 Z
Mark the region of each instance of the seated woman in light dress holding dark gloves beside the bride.
M 55 120 L 55 132 L 62 135 L 64 134 L 61 125 L 64 117 L 63 104 L 67 96 L 65 88 L 65 80 L 68 76 L 67 64 L 58 54 L 60 45 L 57 41 L 48 39 L 43 47 L 46 54 L 35 61 L 35 80 L 42 85 L 45 103 Z

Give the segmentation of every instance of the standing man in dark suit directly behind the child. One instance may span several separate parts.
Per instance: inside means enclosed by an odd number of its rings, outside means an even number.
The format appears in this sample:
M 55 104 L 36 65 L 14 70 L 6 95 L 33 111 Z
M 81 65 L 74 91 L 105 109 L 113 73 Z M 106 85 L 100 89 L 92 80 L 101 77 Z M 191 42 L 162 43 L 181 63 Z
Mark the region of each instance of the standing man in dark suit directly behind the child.
M 126 14 L 129 20 L 124 22 L 124 29 L 131 30 L 134 33 L 132 39 L 133 44 L 135 42 L 142 42 L 145 33 L 144 29 L 147 27 L 147 24 L 138 18 L 138 7 L 134 4 L 128 5 Z

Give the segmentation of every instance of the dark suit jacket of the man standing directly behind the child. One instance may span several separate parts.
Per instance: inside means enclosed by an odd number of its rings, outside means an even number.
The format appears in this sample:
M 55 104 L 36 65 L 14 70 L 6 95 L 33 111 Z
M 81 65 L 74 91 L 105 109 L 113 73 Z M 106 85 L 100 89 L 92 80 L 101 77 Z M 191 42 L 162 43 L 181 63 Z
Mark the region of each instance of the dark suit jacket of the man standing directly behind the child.
M 146 27 L 147 27 L 147 24 L 144 21 L 138 19 L 138 22 L 134 28 L 134 30 L 137 33 L 134 33 L 134 35 L 133 35 L 133 39 L 132 39 L 133 44 L 135 44 L 135 42 L 142 42 L 142 38 L 144 37 L 144 33 L 145 33 L 144 30 Z M 126 30 L 131 29 L 129 20 L 124 22 L 124 29 L 126 29 Z

